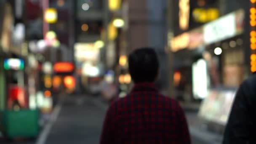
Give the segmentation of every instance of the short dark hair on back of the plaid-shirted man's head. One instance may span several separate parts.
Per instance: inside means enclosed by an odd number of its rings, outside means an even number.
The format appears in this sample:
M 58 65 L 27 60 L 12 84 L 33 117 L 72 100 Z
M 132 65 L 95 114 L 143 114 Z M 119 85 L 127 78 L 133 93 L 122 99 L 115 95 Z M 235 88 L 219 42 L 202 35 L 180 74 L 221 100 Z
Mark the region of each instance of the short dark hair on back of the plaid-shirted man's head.
M 129 72 L 134 83 L 154 82 L 158 75 L 159 61 L 153 48 L 139 48 L 129 55 Z

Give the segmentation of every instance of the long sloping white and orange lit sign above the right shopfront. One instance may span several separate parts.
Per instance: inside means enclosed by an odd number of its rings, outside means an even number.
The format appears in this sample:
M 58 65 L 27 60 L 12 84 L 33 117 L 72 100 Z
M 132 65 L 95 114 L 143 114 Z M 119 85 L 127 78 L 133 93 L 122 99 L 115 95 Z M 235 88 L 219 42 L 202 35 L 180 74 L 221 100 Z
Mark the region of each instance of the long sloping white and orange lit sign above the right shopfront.
M 245 12 L 240 9 L 170 40 L 171 51 L 193 49 L 243 33 Z

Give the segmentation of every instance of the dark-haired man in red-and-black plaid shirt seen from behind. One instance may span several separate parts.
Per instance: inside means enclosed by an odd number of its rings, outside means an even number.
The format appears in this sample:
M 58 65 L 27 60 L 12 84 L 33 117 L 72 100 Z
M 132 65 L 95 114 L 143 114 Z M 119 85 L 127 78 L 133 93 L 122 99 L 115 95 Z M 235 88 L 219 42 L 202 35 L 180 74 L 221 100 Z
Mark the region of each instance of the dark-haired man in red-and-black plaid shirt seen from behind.
M 152 48 L 139 48 L 129 56 L 135 83 L 125 98 L 113 102 L 105 118 L 101 144 L 190 144 L 184 112 L 179 104 L 159 93 L 159 70 Z

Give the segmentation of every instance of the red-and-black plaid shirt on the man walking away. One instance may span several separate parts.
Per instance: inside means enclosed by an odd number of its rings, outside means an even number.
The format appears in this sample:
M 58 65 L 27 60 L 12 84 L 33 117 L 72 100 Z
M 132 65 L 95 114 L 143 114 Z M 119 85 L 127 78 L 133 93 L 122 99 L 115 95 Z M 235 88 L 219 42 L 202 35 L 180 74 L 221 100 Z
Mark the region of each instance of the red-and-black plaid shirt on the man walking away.
M 190 138 L 179 104 L 141 83 L 109 107 L 101 143 L 190 144 Z

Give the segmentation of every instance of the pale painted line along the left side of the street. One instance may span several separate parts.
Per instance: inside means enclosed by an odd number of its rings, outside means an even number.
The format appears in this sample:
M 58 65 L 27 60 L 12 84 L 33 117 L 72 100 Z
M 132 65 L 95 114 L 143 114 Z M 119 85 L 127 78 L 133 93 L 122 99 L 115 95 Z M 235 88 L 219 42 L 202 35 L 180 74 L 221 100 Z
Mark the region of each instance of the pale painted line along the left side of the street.
M 60 111 L 61 111 L 61 105 L 58 104 L 53 110 L 53 114 L 51 115 L 50 121 L 47 123 L 43 131 L 40 133 L 40 136 L 38 137 L 36 144 L 45 144 L 45 141 L 49 133 L 51 132 L 51 128 L 53 124 L 56 122 Z

